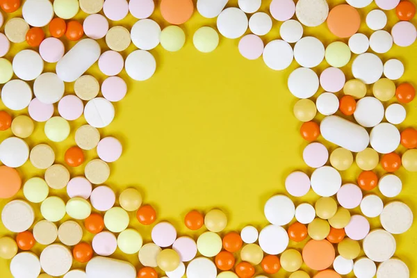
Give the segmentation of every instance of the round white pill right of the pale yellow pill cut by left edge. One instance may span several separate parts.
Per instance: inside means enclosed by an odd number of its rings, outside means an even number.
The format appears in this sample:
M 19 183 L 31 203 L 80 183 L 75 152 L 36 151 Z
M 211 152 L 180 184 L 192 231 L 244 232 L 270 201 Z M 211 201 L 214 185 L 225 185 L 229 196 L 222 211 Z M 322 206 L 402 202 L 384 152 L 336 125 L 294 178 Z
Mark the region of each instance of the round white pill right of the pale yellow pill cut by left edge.
M 13 58 L 13 72 L 19 79 L 30 81 L 40 76 L 44 63 L 38 52 L 25 49 L 19 51 Z

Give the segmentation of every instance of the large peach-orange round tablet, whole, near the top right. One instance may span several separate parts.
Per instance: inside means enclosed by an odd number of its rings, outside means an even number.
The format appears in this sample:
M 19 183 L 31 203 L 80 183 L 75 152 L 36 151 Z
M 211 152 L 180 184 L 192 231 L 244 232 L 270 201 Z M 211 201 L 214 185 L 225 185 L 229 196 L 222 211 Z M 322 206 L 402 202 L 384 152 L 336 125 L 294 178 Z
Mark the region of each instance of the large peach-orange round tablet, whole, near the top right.
M 339 38 L 349 38 L 357 33 L 361 25 L 361 16 L 356 8 L 342 4 L 330 10 L 327 26 L 330 32 Z

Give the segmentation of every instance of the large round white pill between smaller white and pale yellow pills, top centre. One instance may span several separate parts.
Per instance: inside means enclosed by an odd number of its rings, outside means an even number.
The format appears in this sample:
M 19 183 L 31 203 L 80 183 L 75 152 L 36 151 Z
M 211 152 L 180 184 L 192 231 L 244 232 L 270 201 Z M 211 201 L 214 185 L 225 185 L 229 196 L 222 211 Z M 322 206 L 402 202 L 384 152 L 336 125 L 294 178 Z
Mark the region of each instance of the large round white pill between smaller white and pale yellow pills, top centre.
M 226 8 L 217 19 L 220 34 L 228 39 L 237 39 L 245 34 L 249 22 L 246 14 L 239 8 Z

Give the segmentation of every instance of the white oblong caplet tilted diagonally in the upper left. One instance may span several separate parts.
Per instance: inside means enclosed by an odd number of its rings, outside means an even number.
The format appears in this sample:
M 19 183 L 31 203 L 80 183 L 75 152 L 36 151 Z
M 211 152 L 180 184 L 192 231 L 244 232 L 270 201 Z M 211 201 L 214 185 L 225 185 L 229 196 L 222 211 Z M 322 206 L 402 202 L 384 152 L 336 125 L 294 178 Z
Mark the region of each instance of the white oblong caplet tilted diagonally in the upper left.
M 77 42 L 56 64 L 56 74 L 65 82 L 74 82 L 94 64 L 100 56 L 100 46 L 92 39 Z

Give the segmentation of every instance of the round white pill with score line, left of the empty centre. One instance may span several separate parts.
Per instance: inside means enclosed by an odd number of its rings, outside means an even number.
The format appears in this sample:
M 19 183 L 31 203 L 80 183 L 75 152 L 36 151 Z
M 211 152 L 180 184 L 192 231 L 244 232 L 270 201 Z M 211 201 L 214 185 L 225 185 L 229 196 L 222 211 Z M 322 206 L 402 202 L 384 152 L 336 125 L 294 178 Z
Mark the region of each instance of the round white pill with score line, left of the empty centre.
M 85 104 L 85 120 L 97 129 L 108 126 L 113 122 L 115 117 L 115 108 L 113 104 L 104 97 L 96 97 Z

